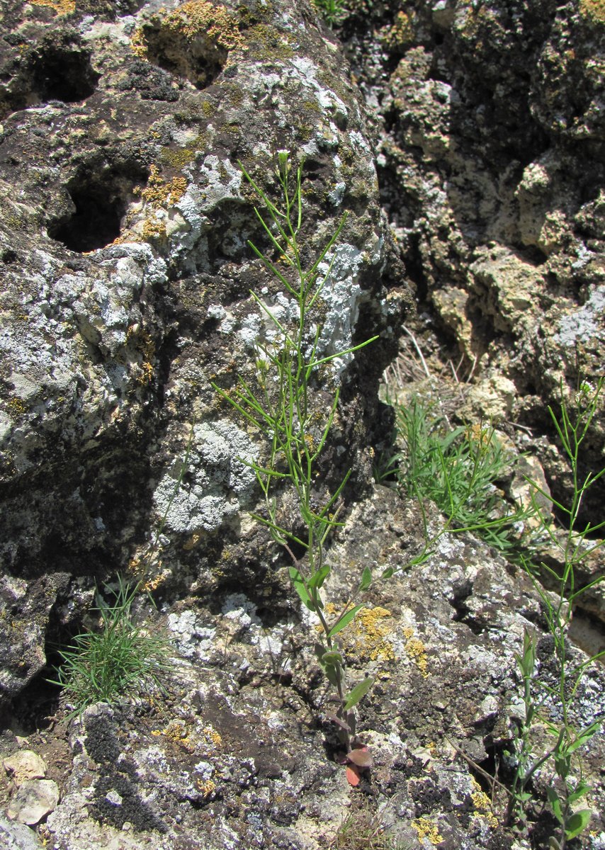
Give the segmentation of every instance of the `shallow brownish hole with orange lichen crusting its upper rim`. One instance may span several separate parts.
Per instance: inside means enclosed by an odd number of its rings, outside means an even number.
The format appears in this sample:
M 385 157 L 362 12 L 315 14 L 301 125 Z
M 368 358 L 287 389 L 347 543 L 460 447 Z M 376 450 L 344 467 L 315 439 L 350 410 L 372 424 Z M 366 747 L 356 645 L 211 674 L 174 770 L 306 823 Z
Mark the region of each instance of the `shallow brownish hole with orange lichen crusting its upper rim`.
M 144 42 L 151 63 L 175 77 L 184 77 L 195 88 L 210 86 L 227 63 L 227 50 L 219 48 L 205 32 L 188 38 L 172 29 L 145 26 Z

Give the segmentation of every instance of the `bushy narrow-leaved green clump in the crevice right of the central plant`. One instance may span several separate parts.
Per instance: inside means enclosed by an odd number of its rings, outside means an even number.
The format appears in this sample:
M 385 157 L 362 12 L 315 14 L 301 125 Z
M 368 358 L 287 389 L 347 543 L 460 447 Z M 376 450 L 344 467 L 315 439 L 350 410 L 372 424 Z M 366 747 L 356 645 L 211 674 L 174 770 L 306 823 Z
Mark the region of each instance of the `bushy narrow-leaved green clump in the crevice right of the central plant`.
M 433 501 L 446 517 L 445 530 L 472 531 L 506 557 L 516 556 L 518 529 L 534 509 L 512 507 L 497 486 L 512 461 L 494 428 L 450 428 L 433 405 L 419 398 L 393 406 L 403 450 L 382 461 L 379 475 L 394 474 L 422 511 L 426 500 Z

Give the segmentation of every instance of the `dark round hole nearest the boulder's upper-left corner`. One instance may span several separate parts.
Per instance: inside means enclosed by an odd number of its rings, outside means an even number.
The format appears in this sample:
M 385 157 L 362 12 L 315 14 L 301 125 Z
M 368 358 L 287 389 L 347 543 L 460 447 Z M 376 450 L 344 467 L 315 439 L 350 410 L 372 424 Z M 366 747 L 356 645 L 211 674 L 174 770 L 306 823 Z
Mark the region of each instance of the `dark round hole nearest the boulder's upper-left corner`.
M 68 41 L 43 43 L 31 61 L 31 91 L 42 103 L 85 100 L 93 94 L 99 77 L 90 64 L 90 54 Z

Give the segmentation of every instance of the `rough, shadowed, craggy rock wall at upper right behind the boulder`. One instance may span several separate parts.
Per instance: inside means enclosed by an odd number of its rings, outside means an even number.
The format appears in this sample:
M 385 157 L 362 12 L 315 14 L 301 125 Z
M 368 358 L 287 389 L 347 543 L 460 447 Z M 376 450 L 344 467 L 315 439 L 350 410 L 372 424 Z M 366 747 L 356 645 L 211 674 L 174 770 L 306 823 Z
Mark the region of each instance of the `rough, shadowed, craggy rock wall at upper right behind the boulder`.
M 342 37 L 378 115 L 382 200 L 445 356 L 472 371 L 466 412 L 552 434 L 560 382 L 573 403 L 605 369 L 602 3 L 353 9 Z M 583 473 L 603 466 L 604 418 Z M 557 450 L 542 462 L 565 498 Z M 598 486 L 586 516 L 603 501 Z

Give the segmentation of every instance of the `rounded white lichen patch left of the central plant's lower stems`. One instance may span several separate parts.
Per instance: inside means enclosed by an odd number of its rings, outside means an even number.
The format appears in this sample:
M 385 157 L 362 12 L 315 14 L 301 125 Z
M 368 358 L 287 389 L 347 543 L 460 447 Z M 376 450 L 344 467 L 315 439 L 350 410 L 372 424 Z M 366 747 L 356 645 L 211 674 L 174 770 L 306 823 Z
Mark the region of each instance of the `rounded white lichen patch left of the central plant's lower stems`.
M 183 473 L 176 462 L 155 489 L 155 508 L 166 518 L 165 530 L 189 535 L 218 530 L 246 501 L 254 483 L 246 462 L 255 456 L 246 433 L 229 420 L 196 425 L 187 469 Z

